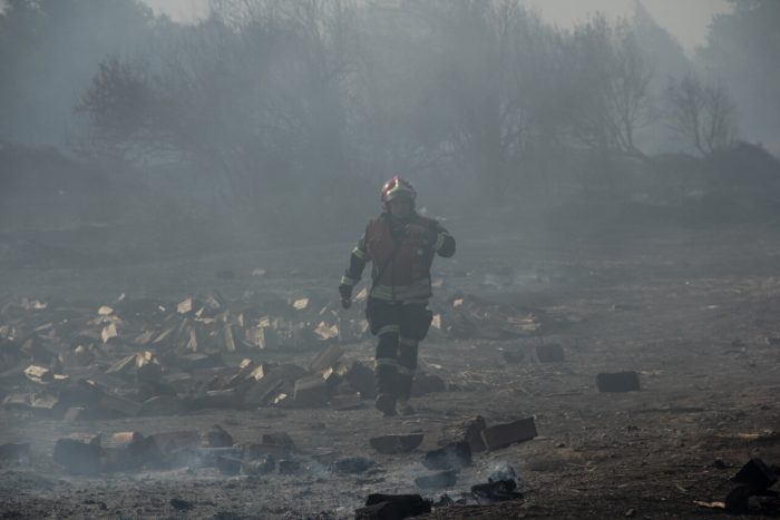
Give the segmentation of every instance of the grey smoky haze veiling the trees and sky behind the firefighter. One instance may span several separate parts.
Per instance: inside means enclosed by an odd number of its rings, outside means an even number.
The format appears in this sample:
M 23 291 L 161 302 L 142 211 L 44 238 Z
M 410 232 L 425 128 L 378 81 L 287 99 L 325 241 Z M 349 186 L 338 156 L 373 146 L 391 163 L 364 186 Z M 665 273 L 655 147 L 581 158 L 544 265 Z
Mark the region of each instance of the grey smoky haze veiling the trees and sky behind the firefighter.
M 12 228 L 351 239 L 394 174 L 433 216 L 536 225 L 686 204 L 780 151 L 773 0 L 6 4 Z

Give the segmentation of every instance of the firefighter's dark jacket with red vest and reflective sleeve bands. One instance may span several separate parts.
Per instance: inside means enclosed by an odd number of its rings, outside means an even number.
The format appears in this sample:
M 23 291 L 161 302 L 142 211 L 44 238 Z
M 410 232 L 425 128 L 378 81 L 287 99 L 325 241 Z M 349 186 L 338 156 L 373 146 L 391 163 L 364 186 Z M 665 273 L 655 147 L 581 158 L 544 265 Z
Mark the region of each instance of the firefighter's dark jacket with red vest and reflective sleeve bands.
M 422 226 L 426 233 L 411 236 L 408 233 L 411 224 Z M 455 254 L 455 238 L 437 220 L 417 213 L 404 219 L 383 213 L 369 222 L 365 233 L 352 249 L 341 286 L 351 290 L 370 261 L 372 286 L 369 297 L 388 302 L 425 302 L 431 296 L 430 267 L 437 254 L 443 257 Z

